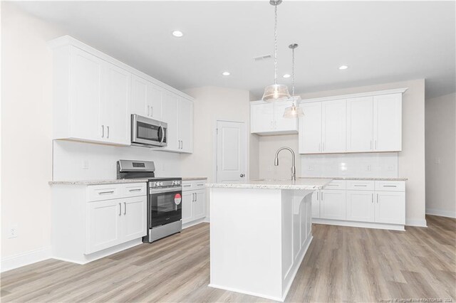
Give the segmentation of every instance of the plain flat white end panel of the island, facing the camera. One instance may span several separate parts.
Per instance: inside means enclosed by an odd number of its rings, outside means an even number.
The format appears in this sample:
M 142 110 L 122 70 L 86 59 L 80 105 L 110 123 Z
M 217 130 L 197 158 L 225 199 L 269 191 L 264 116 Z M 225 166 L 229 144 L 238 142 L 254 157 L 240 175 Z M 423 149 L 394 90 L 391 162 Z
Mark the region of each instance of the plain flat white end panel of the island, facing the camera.
M 281 300 L 281 190 L 210 188 L 210 285 Z

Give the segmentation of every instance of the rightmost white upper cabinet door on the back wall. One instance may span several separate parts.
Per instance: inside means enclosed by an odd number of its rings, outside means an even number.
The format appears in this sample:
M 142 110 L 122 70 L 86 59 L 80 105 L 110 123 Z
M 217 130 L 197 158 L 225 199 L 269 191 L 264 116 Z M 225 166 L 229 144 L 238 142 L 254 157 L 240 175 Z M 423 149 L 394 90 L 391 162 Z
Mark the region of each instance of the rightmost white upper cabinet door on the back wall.
M 402 94 L 373 97 L 373 148 L 402 150 Z

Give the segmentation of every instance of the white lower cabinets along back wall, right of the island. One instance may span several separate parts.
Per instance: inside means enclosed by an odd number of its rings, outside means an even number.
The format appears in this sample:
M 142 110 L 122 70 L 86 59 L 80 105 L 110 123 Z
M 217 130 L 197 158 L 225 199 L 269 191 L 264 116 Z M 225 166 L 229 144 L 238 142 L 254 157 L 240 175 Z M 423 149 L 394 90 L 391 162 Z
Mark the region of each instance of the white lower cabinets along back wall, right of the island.
M 312 218 L 314 223 L 403 230 L 405 181 L 332 181 L 313 193 Z

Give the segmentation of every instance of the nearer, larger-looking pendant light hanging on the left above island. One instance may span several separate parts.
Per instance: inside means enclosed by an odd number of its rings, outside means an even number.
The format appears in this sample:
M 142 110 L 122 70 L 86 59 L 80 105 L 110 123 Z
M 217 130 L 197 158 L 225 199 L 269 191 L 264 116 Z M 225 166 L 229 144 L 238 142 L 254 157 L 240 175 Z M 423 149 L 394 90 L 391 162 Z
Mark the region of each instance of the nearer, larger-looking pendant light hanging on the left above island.
M 264 94 L 261 98 L 264 101 L 271 102 L 284 100 L 290 97 L 288 87 L 283 84 L 277 84 L 277 6 L 282 3 L 282 0 L 270 0 L 269 4 L 274 6 L 274 84 L 264 88 Z

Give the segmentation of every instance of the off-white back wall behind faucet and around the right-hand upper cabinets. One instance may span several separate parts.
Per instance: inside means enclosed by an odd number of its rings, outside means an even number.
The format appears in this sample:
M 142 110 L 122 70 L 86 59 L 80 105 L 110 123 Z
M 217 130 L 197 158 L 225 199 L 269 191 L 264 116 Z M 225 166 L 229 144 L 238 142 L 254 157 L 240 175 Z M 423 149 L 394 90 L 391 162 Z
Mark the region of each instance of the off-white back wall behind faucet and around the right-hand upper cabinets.
M 406 182 L 407 225 L 425 225 L 425 80 L 410 80 L 400 83 L 385 83 L 342 90 L 327 90 L 302 94 L 303 99 L 329 97 L 357 92 L 371 92 L 408 87 L 403 95 L 403 151 L 398 153 L 398 176 L 408 178 Z M 298 151 L 297 136 L 259 137 L 259 177 L 271 176 L 268 171 L 273 165 L 274 153 L 282 146 Z M 289 155 L 281 156 L 280 166 L 274 168 L 274 176 L 289 176 Z M 298 167 L 301 167 L 299 159 Z M 301 175 L 297 169 L 298 176 Z M 276 171 L 274 171 L 276 169 Z

